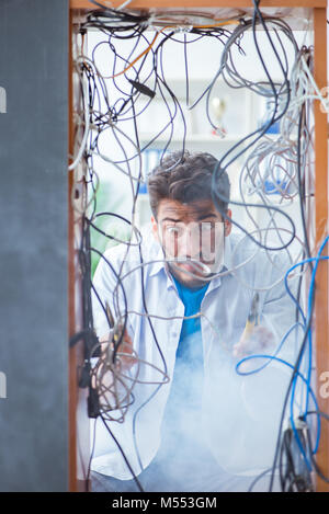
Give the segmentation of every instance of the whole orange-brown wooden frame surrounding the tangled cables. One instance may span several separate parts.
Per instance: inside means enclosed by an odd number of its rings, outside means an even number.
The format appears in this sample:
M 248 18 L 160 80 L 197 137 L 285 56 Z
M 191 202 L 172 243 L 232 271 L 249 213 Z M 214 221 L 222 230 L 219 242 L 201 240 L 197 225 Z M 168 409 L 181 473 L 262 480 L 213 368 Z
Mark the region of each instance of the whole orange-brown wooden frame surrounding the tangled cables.
M 122 1 L 114 0 L 113 7 L 120 5 Z M 202 4 L 202 8 L 201 8 Z M 179 8 L 195 10 L 200 8 L 252 8 L 252 0 L 180 0 Z M 261 8 L 310 8 L 314 11 L 314 48 L 315 48 L 315 68 L 314 76 L 319 89 L 327 87 L 327 0 L 262 0 Z M 178 9 L 173 0 L 133 0 L 129 9 L 151 9 L 161 10 Z M 73 85 L 72 85 L 72 46 L 73 19 L 79 13 L 86 13 L 87 10 L 94 10 L 95 5 L 89 0 L 70 0 L 70 47 L 69 47 L 69 151 L 73 153 Z M 320 110 L 320 102 L 315 101 L 315 248 L 318 249 L 324 237 L 328 233 L 328 121 L 327 114 Z M 72 174 L 68 178 L 68 198 L 72 187 Z M 75 220 L 73 212 L 69 204 L 69 336 L 79 330 L 81 322 L 82 298 L 79 297 L 79 273 L 77 273 L 77 252 L 73 248 Z M 327 253 L 327 252 L 326 252 Z M 316 279 L 316 300 L 315 300 L 315 344 L 316 344 L 316 366 L 317 382 L 316 396 L 319 402 L 319 409 L 329 412 L 329 398 L 321 398 L 319 391 L 322 386 L 321 374 L 329 370 L 329 317 L 328 317 L 328 263 L 320 262 Z M 81 441 L 78 431 L 78 418 L 83 420 L 83 408 L 87 412 L 86 393 L 78 388 L 77 368 L 83 361 L 82 343 L 71 349 L 69 352 L 69 490 L 86 490 L 84 482 L 81 480 L 81 472 L 86 468 L 86 462 L 81 460 L 81 447 L 89 447 L 88 439 Z M 87 418 L 88 419 L 88 418 Z M 82 445 L 82 446 L 81 446 Z M 82 452 L 83 453 L 83 452 Z M 324 421 L 321 430 L 320 445 L 317 453 L 317 461 L 322 472 L 329 475 L 329 423 Z M 86 471 L 86 469 L 84 469 Z M 317 491 L 329 491 L 329 486 L 317 477 Z

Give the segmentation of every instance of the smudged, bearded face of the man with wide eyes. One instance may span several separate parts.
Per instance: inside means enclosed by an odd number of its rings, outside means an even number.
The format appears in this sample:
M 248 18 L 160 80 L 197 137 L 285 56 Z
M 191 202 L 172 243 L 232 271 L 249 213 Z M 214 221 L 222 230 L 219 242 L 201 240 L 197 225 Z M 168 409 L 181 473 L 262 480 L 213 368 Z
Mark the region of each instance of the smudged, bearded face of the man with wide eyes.
M 228 209 L 227 215 L 231 213 Z M 207 283 L 205 277 L 220 270 L 224 238 L 231 224 L 224 220 L 211 199 L 182 204 L 161 199 L 152 230 L 162 245 L 172 275 L 190 288 Z

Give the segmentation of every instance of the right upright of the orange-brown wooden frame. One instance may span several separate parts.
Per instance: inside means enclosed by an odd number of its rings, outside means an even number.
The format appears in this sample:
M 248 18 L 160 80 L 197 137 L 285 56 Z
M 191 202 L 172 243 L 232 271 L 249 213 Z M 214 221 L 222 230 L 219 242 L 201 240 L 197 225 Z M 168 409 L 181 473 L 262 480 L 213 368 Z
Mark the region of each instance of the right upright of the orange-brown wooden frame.
M 314 10 L 314 76 L 319 89 L 327 87 L 327 13 Z M 328 122 L 327 114 L 315 102 L 315 224 L 316 251 L 328 235 Z M 328 248 L 328 247 L 327 247 Z M 328 250 L 324 255 L 328 254 Z M 329 370 L 329 319 L 328 319 L 328 261 L 319 263 L 316 277 L 315 340 L 317 365 L 317 399 L 319 409 L 329 412 L 329 398 L 321 395 L 324 373 Z M 321 437 L 317 462 L 325 476 L 329 476 L 329 423 L 321 420 Z M 329 484 L 317 477 L 317 491 L 329 491 Z

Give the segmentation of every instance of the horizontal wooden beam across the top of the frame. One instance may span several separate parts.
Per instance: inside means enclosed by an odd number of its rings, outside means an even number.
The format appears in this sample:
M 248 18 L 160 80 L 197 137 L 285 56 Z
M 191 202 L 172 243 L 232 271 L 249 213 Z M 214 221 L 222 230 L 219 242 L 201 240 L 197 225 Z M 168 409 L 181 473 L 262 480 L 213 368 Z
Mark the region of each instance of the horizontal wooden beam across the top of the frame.
M 100 3 L 106 4 L 105 0 Z M 107 2 L 110 8 L 118 7 L 123 0 L 113 0 Z M 127 9 L 151 9 L 151 8 L 252 8 L 252 0 L 132 0 Z M 327 0 L 262 0 L 263 8 L 326 8 Z M 71 9 L 98 9 L 89 0 L 70 0 Z

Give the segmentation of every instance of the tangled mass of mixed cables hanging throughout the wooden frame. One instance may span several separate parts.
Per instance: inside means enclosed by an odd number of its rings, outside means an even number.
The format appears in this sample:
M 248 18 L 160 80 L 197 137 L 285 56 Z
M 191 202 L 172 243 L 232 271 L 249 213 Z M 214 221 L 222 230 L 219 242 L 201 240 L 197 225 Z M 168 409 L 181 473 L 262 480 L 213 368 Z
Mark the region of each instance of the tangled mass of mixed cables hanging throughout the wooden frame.
M 87 370 L 86 373 L 89 379 L 87 381 L 84 380 L 83 384 L 84 387 L 87 384 L 90 388 L 91 416 L 97 418 L 101 415 L 105 425 L 106 421 L 124 421 L 127 409 L 131 408 L 135 401 L 134 387 L 136 384 L 147 384 L 143 382 L 139 377 L 141 365 L 154 367 L 160 377 L 159 380 L 148 382 L 157 387 L 147 401 L 154 398 L 160 387 L 169 380 L 167 363 L 151 322 L 152 318 L 160 317 L 149 313 L 145 292 L 141 298 L 143 311 L 135 312 L 135 315 L 147 318 L 154 335 L 152 344 L 157 347 L 157 352 L 162 362 L 162 368 L 160 369 L 155 367 L 151 363 L 146 363 L 139 358 L 135 351 L 131 353 L 131 349 L 126 349 L 124 333 L 128 315 L 132 312 L 127 309 L 126 292 L 123 283 L 125 277 L 124 267 L 122 265 L 117 272 L 113 269 L 111 262 L 106 261 L 117 283 L 113 294 L 113 315 L 116 323 L 118 323 L 116 328 L 120 325 L 121 329 L 116 332 L 116 338 L 113 338 L 113 320 L 110 319 L 109 310 L 106 306 L 103 305 L 91 282 L 91 254 L 98 254 L 100 259 L 105 258 L 99 249 L 91 244 L 90 231 L 98 231 L 106 240 L 126 244 L 125 255 L 127 255 L 132 249 L 137 251 L 139 258 L 138 266 L 129 273 L 138 273 L 138 279 L 144 284 L 144 269 L 152 261 L 145 261 L 144 259 L 141 252 L 143 236 L 135 222 L 138 192 L 140 185 L 146 181 L 145 173 L 143 173 L 143 152 L 162 137 L 166 139 L 161 150 L 160 160 L 162 160 L 162 157 L 166 156 L 166 152 L 171 147 L 177 125 L 182 127 L 182 155 L 185 149 L 186 122 L 183 107 L 175 92 L 170 87 L 169 80 L 167 80 L 163 66 L 166 43 L 170 41 L 177 42 L 178 45 L 183 45 L 184 49 L 186 105 L 189 105 L 190 110 L 193 110 L 204 99 L 205 113 L 209 126 L 214 130 L 218 130 L 220 127 L 212 119 L 209 105 L 218 79 L 223 79 L 225 83 L 232 89 L 248 88 L 252 93 L 265 99 L 270 106 L 269 117 L 261 126 L 232 145 L 220 158 L 218 167 L 214 170 L 213 174 L 213 201 L 220 212 L 220 201 L 227 198 L 223 197 L 220 192 L 217 191 L 216 180 L 224 170 L 229 169 L 242 155 L 246 155 L 245 165 L 239 174 L 241 202 L 231 203 L 232 205 L 246 209 L 247 216 L 254 226 L 254 230 L 247 230 L 241 224 L 235 221 L 235 219 L 230 219 L 230 221 L 245 233 L 245 238 L 250 238 L 259 249 L 265 250 L 271 265 L 275 265 L 273 264 L 273 254 L 275 255 L 275 252 L 284 250 L 288 254 L 291 269 L 288 271 L 282 271 L 282 276 L 286 278 L 286 288 L 288 292 L 290 286 L 287 281 L 293 276 L 299 276 L 297 297 L 293 296 L 291 293 L 296 304 L 295 324 L 292 324 L 274 355 L 251 356 L 247 357 L 247 359 L 265 357 L 268 358 L 268 363 L 271 359 L 280 362 L 280 358 L 276 356 L 277 352 L 290 333 L 297 327 L 302 328 L 304 331 L 300 351 L 295 366 L 281 362 L 282 366 L 291 366 L 293 372 L 282 414 L 282 424 L 277 437 L 277 448 L 272 468 L 270 489 L 273 484 L 274 472 L 279 467 L 282 490 L 300 490 L 299 486 L 302 479 L 298 477 L 298 480 L 300 480 L 296 481 L 293 462 L 294 457 L 292 457 L 291 452 L 293 437 L 303 461 L 306 462 L 306 468 L 302 467 L 304 470 L 305 488 L 310 488 L 310 469 L 316 469 L 316 471 L 320 473 L 314 459 L 317 445 L 313 447 L 310 452 L 311 457 L 309 457 L 309 452 L 307 453 L 306 450 L 307 442 L 305 438 L 302 438 L 300 432 L 298 432 L 295 426 L 294 401 L 296 399 L 296 382 L 299 379 L 306 385 L 306 408 L 304 410 L 302 409 L 303 412 L 300 415 L 305 423 L 307 423 L 307 415 L 309 413 L 308 398 L 311 397 L 316 404 L 314 393 L 309 386 L 311 369 L 310 323 L 313 316 L 314 285 L 309 292 L 310 300 L 308 305 L 308 316 L 306 317 L 300 307 L 302 281 L 306 272 L 322 259 L 320 254 L 316 259 L 313 259 L 310 255 L 306 229 L 307 213 L 305 213 L 306 175 L 311 164 L 313 128 L 309 127 L 310 103 L 315 98 L 319 99 L 320 96 L 311 76 L 311 50 L 307 47 L 298 48 L 291 28 L 284 21 L 274 18 L 263 18 L 259 9 L 259 2 L 257 1 L 254 1 L 254 11 L 251 19 L 223 21 L 205 20 L 203 23 L 195 24 L 193 24 L 193 20 L 191 24 L 191 18 L 184 20 L 182 14 L 133 14 L 121 10 L 104 9 L 104 5 L 100 2 L 94 3 L 103 9 L 89 13 L 86 23 L 81 25 L 80 32 L 83 35 L 91 27 L 98 28 L 104 34 L 104 41 L 92 49 L 91 57 L 81 54 L 76 59 L 76 71 L 80 80 L 82 106 L 81 111 L 76 113 L 76 125 L 80 128 L 81 137 L 80 144 L 78 144 L 77 156 L 69 167 L 70 171 L 75 173 L 76 183 L 81 182 L 81 180 L 84 181 L 84 183 L 88 184 L 89 191 L 88 197 L 83 201 L 82 209 L 77 207 L 80 198 L 76 202 L 75 189 L 72 191 L 72 203 L 78 216 L 82 218 L 82 238 L 80 241 L 79 256 L 83 284 L 83 325 L 87 330 L 86 333 L 89 334 L 89 342 L 88 338 L 84 340 L 87 349 L 84 355 L 84 370 Z M 234 26 L 231 31 L 229 30 L 230 25 Z M 264 31 L 274 59 L 281 70 L 282 80 L 279 82 L 271 76 L 266 57 L 260 48 L 257 31 L 259 27 Z M 150 32 L 150 28 L 155 32 Z M 265 76 L 265 80 L 263 81 L 253 82 L 245 78 L 235 64 L 234 50 L 238 49 L 240 54 L 243 54 L 243 35 L 248 31 L 253 35 L 254 48 Z M 188 34 L 189 37 L 186 36 Z M 218 70 L 214 78 L 191 105 L 189 104 L 190 78 L 188 48 L 191 43 L 197 44 L 197 42 L 204 37 L 211 37 L 220 44 L 222 56 Z M 133 43 L 128 56 L 120 54 L 120 43 L 123 39 Z M 288 65 L 285 53 L 285 45 L 287 43 L 293 46 L 295 54 L 295 61 L 292 67 Z M 113 57 L 112 67 L 107 70 L 106 75 L 101 72 L 97 64 L 98 48 L 100 45 L 106 45 Z M 155 99 L 162 100 L 166 107 L 166 119 L 162 121 L 162 127 L 157 130 L 156 134 L 151 135 L 147 144 L 141 146 L 138 123 Z M 280 134 L 275 137 L 269 136 L 269 128 L 276 123 L 280 123 Z M 116 149 L 121 155 L 116 160 L 111 157 L 112 146 L 103 142 L 103 138 L 106 136 L 111 136 L 109 140 L 116 145 Z M 109 153 L 104 151 L 105 147 L 106 149 L 109 148 Z M 83 162 L 86 163 L 83 179 L 81 179 L 81 171 L 79 170 L 82 156 Z M 94 170 L 95 157 L 109 164 L 109 172 L 120 172 L 128 178 L 132 193 L 132 220 L 123 218 L 115 213 L 97 212 L 99 178 Z M 178 163 L 179 161 L 175 164 Z M 272 187 L 270 193 L 276 195 L 275 203 L 270 202 L 271 194 L 269 193 L 269 183 Z M 246 197 L 250 194 L 257 195 L 258 203 L 246 202 Z M 303 239 L 296 235 L 294 220 L 284 210 L 284 207 L 290 205 L 293 201 L 296 201 L 296 198 L 300 205 Z M 262 212 L 266 213 L 269 216 L 269 221 L 264 228 L 259 226 L 254 216 L 254 209 L 263 209 Z M 226 213 L 223 212 L 222 214 L 227 218 Z M 97 220 L 101 218 L 120 218 L 129 230 L 127 239 L 122 240 L 109 233 L 103 228 L 99 228 Z M 281 227 L 283 219 L 288 224 L 288 228 Z M 273 243 L 273 239 L 275 243 Z M 297 259 L 293 258 L 291 252 L 291 244 L 293 242 L 297 242 L 299 245 Z M 240 264 L 240 266 L 246 263 Z M 316 266 L 317 264 L 315 264 L 314 269 L 316 269 Z M 219 276 L 230 272 L 238 276 L 238 267 L 239 266 L 226 272 L 220 272 Z M 313 281 L 314 279 L 315 274 L 313 275 Z M 245 285 L 248 287 L 248 284 Z M 275 285 L 276 284 L 273 284 L 271 287 Z M 94 334 L 90 304 L 91 290 L 93 290 L 98 297 L 109 322 L 109 333 L 112 334 L 105 343 L 98 342 L 94 344 L 94 335 L 90 335 Z M 262 290 L 261 287 L 260 290 Z M 120 301 L 120 295 L 124 298 L 123 304 Z M 200 312 L 197 316 L 205 315 Z M 168 321 L 170 319 L 168 319 Z M 216 327 L 212 327 L 212 329 L 217 331 Z M 305 350 L 307 343 L 308 352 L 306 355 Z M 100 352 L 101 347 L 103 349 L 102 352 Z M 98 356 L 98 361 L 95 365 L 91 366 L 90 362 L 93 356 Z M 135 363 L 132 373 L 124 367 L 124 361 L 127 357 L 133 358 Z M 243 361 L 246 359 L 242 359 L 239 365 Z M 237 370 L 239 369 L 239 365 L 237 366 Z M 306 372 L 304 372 L 306 373 L 306 378 L 302 367 L 306 369 Z M 258 372 L 260 373 L 261 368 Z M 291 400 L 291 432 L 284 432 L 283 419 L 288 399 Z M 138 413 L 145 404 L 146 402 L 143 403 L 134 414 L 134 431 Z M 318 414 L 317 418 L 318 433 L 320 415 L 321 414 Z M 308 425 L 307 429 L 309 429 Z M 107 430 L 110 431 L 109 426 Z M 120 449 L 122 450 L 121 447 Z M 136 448 L 136 453 L 138 455 L 138 448 Z M 296 455 L 296 453 L 294 453 L 294 455 Z M 280 461 L 277 464 L 279 456 Z

